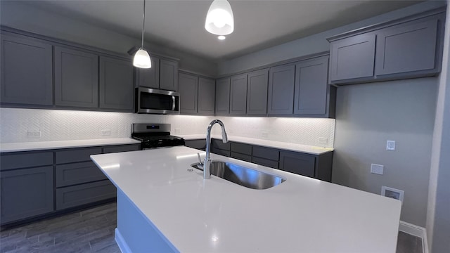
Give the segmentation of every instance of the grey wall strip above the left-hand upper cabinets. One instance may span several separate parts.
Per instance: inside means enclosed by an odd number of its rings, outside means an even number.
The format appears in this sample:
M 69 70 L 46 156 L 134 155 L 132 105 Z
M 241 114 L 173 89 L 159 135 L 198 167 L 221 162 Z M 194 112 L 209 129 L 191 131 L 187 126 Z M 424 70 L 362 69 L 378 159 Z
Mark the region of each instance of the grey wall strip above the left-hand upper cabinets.
M 133 46 L 141 44 L 139 38 L 129 37 L 113 30 L 82 22 L 82 20 L 75 20 L 59 13 L 30 6 L 25 1 L 0 1 L 0 24 L 124 54 Z M 198 56 L 148 42 L 146 42 L 146 48 L 153 53 L 179 58 L 179 67 L 184 70 L 210 76 L 217 74 L 216 63 Z

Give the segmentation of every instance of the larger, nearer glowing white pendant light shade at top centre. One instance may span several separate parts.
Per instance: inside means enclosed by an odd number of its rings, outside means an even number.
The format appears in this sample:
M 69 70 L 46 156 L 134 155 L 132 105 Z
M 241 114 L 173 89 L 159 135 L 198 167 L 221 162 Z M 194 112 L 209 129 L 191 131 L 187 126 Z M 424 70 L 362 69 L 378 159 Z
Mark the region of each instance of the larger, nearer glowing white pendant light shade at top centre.
M 205 29 L 216 35 L 228 35 L 234 30 L 233 11 L 226 0 L 214 0 L 208 10 Z

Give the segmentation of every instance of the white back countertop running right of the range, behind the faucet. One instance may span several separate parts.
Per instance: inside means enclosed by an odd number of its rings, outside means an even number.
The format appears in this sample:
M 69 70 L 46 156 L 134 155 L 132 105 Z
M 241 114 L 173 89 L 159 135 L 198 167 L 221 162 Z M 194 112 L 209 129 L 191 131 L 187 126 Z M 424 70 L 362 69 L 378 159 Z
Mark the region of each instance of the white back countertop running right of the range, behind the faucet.
M 195 140 L 195 139 L 204 139 L 206 138 L 206 134 L 191 134 L 191 135 L 178 135 L 183 137 L 185 140 Z M 212 135 L 211 138 L 217 138 L 219 140 L 222 139 L 221 135 Z M 290 150 L 295 152 L 308 153 L 311 155 L 321 155 L 323 153 L 328 153 L 333 151 L 333 148 L 321 148 L 311 145 L 302 145 L 297 143 L 285 143 L 281 141 L 270 141 L 264 139 L 257 138 L 246 138 L 240 136 L 228 136 L 229 141 L 236 141 L 240 143 L 247 143 L 253 145 L 260 145 L 269 148 L 280 148 L 283 150 Z

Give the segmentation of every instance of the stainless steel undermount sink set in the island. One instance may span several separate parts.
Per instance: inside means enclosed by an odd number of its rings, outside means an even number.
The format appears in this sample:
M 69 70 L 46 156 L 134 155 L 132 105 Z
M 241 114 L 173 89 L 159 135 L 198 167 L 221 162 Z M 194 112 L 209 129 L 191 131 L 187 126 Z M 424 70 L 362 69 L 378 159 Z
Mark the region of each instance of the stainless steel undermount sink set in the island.
M 191 164 L 192 167 L 200 170 L 203 170 L 202 165 L 200 163 Z M 286 181 L 281 176 L 242 167 L 231 162 L 217 160 L 211 161 L 210 171 L 214 176 L 237 183 L 240 186 L 257 190 L 278 186 L 280 183 Z

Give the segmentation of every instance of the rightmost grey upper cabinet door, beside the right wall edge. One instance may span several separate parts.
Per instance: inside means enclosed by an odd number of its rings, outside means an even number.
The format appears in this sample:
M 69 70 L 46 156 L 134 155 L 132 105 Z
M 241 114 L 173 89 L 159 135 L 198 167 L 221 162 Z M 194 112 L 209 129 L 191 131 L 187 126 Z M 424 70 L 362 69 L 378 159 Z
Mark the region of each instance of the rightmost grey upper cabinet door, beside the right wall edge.
M 436 43 L 436 19 L 380 30 L 377 34 L 375 74 L 435 69 Z

